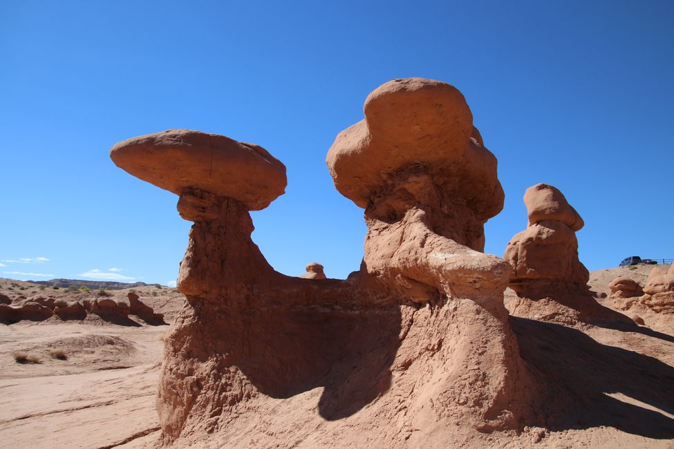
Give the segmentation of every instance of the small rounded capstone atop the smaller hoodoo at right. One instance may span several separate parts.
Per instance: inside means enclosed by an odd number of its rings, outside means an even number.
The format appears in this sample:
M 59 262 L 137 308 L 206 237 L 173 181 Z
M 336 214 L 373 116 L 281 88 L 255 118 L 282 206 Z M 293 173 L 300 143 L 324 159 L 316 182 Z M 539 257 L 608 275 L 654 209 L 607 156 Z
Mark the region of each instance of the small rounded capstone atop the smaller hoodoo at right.
M 529 226 L 543 220 L 555 220 L 563 222 L 573 231 L 579 231 L 585 224 L 563 193 L 550 184 L 536 184 L 527 189 L 524 204 L 527 207 Z

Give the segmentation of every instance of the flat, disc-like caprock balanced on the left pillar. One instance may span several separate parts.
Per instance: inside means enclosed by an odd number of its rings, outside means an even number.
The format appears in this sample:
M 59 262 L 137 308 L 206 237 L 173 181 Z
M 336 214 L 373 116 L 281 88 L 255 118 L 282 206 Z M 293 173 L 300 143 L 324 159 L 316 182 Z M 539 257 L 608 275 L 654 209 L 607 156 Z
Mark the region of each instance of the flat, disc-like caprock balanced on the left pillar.
M 205 191 L 233 198 L 249 211 L 285 191 L 285 166 L 261 146 L 224 135 L 169 129 L 119 142 L 113 162 L 137 178 L 177 195 Z

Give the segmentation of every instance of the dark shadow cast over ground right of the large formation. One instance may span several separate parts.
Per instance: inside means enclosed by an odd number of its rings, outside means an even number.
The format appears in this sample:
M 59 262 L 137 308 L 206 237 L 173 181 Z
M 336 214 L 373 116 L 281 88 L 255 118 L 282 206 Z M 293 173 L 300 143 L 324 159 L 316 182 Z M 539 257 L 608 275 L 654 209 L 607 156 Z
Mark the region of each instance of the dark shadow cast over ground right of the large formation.
M 608 395 L 623 394 L 674 414 L 674 367 L 562 325 L 509 320 L 521 356 L 545 392 L 536 406 L 538 422 L 529 425 L 553 431 L 609 426 L 642 437 L 674 438 L 674 419 Z

